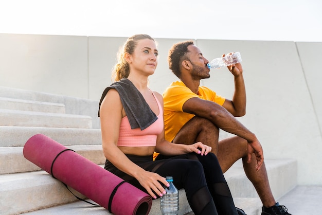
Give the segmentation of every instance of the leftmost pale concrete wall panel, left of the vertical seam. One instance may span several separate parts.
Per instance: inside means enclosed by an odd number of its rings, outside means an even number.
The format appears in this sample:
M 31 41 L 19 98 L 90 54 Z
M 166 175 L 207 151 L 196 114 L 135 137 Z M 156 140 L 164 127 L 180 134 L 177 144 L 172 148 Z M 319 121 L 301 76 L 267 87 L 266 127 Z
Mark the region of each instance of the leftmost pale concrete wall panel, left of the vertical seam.
M 88 98 L 87 40 L 0 34 L 0 85 Z

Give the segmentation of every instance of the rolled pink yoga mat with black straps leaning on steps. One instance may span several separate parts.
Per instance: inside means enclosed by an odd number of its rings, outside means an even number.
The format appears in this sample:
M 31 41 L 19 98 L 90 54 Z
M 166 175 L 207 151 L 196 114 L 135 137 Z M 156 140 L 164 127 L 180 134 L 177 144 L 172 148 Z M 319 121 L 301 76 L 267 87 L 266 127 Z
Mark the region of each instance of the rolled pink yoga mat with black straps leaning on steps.
M 110 203 L 114 214 L 148 214 L 151 209 L 149 194 L 43 134 L 28 139 L 23 153 L 30 162 L 102 207 L 109 209 Z

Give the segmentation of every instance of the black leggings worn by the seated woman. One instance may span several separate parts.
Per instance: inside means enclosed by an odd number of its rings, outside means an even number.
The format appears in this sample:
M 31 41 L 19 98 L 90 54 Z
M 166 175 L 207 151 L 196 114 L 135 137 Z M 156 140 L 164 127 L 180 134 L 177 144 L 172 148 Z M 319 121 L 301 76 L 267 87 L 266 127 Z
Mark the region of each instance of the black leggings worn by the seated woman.
M 194 214 L 238 214 L 216 155 L 201 156 L 196 153 L 178 155 L 155 161 L 152 156 L 127 155 L 143 169 L 166 177 L 172 176 L 177 189 L 184 188 Z M 118 170 L 109 160 L 105 169 L 147 192 L 132 176 Z M 156 195 L 158 196 L 158 195 Z

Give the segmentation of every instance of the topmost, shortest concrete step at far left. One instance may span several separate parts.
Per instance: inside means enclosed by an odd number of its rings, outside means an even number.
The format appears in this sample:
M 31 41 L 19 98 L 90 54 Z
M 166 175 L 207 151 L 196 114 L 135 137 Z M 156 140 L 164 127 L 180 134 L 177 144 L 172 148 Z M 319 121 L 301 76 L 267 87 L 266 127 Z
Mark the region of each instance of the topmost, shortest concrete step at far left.
M 36 111 L 47 113 L 65 113 L 65 105 L 60 103 L 31 101 L 0 97 L 0 109 Z

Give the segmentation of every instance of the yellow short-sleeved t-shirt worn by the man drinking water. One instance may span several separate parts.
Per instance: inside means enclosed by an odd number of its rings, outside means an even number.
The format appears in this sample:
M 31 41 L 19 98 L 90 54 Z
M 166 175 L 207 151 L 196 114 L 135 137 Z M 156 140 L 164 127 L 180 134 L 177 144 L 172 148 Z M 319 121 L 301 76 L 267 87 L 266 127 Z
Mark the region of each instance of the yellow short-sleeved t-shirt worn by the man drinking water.
M 172 141 L 184 124 L 189 121 L 193 114 L 183 112 L 184 103 L 194 97 L 213 101 L 223 105 L 225 98 L 216 94 L 208 87 L 200 86 L 198 95 L 193 93 L 182 81 L 173 82 L 163 93 L 165 139 Z

